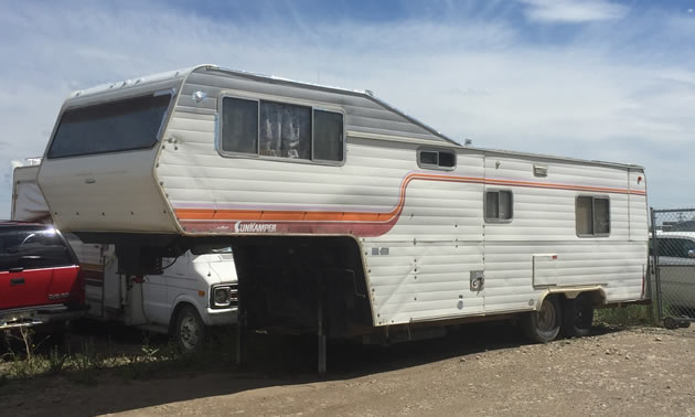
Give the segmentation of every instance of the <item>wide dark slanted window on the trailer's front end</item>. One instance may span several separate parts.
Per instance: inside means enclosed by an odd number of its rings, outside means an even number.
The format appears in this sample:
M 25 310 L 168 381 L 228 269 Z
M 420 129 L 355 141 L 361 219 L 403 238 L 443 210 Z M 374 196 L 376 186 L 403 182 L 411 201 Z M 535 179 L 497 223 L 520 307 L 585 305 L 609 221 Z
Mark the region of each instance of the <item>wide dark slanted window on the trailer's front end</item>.
M 47 158 L 151 148 L 170 101 L 171 94 L 161 94 L 68 109 Z

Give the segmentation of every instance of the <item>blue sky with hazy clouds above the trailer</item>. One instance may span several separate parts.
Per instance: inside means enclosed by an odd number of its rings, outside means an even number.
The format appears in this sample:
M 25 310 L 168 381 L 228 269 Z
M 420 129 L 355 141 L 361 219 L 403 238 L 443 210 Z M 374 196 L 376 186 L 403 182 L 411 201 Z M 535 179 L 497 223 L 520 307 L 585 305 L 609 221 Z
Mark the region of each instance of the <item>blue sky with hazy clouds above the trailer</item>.
M 0 218 L 71 90 L 212 63 L 368 88 L 484 148 L 642 164 L 695 206 L 695 0 L 3 2 Z

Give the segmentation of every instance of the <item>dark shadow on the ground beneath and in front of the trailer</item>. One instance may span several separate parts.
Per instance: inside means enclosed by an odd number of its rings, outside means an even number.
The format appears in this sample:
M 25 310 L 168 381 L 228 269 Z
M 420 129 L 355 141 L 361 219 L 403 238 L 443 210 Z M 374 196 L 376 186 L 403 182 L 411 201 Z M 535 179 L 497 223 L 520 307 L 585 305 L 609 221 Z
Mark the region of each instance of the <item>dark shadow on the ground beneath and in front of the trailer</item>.
M 620 330 L 598 327 L 595 334 Z M 99 324 L 95 328 L 77 328 L 70 334 L 72 343 L 89 338 L 96 343 L 117 346 L 118 350 L 137 350 L 142 343 L 142 333 L 122 327 Z M 506 322 L 461 325 L 446 336 L 413 341 L 388 348 L 361 345 L 348 342 L 330 342 L 328 346 L 328 376 L 318 377 L 316 338 L 276 336 L 249 334 L 245 339 L 246 352 L 242 367 L 233 360 L 202 362 L 174 362 L 170 366 L 142 367 L 142 364 L 125 364 L 109 370 L 99 370 L 87 384 L 75 384 L 70 377 L 39 377 L 26 381 L 26 386 L 36 385 L 46 398 L 35 400 L 31 408 L 21 393 L 7 395 L 3 400 L 12 408 L 29 415 L 73 416 L 95 415 L 135 410 L 145 407 L 232 395 L 265 387 L 308 384 L 318 381 L 346 381 L 365 375 L 403 370 L 452 357 L 475 355 L 487 351 L 515 349 L 526 341 L 515 325 Z M 164 345 L 165 338 L 154 338 L 154 345 Z M 233 349 L 234 343 L 226 346 Z M 136 370 L 136 366 L 139 366 Z M 129 378 L 122 375 L 132 375 Z M 65 385 L 70 385 L 66 387 Z M 32 387 L 34 389 L 34 387 Z M 53 404 L 53 405 L 52 405 Z M 61 411 L 55 404 L 70 404 Z

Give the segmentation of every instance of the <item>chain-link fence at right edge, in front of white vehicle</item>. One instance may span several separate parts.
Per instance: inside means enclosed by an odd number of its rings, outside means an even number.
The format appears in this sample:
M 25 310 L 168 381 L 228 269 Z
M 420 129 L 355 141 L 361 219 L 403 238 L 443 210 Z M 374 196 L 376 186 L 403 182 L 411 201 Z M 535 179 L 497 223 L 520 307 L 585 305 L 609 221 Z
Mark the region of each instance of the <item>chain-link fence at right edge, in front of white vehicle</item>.
M 695 209 L 652 209 L 652 301 L 667 328 L 695 321 Z

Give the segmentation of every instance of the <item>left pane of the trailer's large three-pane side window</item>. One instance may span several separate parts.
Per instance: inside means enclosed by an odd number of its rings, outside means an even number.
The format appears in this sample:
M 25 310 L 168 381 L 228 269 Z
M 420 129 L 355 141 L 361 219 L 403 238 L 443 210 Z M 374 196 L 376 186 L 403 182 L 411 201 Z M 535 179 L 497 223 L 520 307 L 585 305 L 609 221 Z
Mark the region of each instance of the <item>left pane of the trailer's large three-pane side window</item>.
M 258 153 L 258 101 L 224 97 L 222 150 Z

